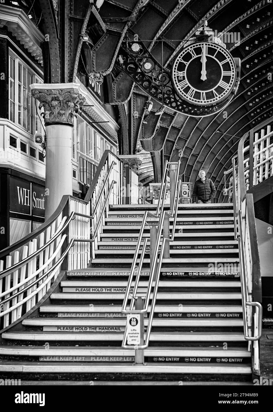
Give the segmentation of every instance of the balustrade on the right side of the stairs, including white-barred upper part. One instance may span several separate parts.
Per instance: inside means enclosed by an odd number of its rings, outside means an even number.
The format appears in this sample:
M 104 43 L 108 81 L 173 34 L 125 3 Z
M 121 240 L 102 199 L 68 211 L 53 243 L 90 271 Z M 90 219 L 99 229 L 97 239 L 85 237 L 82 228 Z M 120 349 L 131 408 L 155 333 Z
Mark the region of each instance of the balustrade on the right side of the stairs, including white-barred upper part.
M 240 139 L 232 159 L 226 189 L 233 201 L 234 238 L 238 239 L 242 309 L 245 339 L 252 351 L 254 374 L 259 375 L 259 339 L 262 333 L 261 270 L 257 243 L 252 187 L 273 176 L 273 117 L 254 127 Z

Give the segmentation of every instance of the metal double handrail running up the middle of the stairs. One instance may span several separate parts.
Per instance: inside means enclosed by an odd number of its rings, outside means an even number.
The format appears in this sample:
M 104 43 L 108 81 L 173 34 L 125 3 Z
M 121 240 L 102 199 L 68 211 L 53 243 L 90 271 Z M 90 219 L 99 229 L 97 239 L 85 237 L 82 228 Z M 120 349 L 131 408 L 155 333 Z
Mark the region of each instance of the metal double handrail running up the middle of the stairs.
M 168 167 L 171 170 L 168 170 Z M 156 296 L 158 292 L 158 284 L 159 284 L 159 279 L 160 279 L 160 270 L 161 270 L 162 260 L 163 260 L 163 257 L 164 258 L 169 257 L 169 242 L 172 242 L 174 240 L 175 225 L 177 221 L 177 211 L 178 211 L 178 204 L 179 204 L 179 197 L 180 197 L 180 187 L 181 187 L 181 180 L 178 180 L 179 168 L 180 168 L 180 159 L 177 163 L 165 162 L 156 213 L 153 214 L 148 211 L 144 212 L 144 218 L 142 220 L 141 229 L 139 232 L 139 238 L 136 243 L 136 250 L 134 253 L 134 258 L 132 261 L 132 266 L 131 266 L 131 271 L 129 274 L 125 297 L 124 297 L 123 304 L 122 304 L 122 313 L 140 314 L 140 317 L 141 317 L 140 323 L 141 323 L 142 335 L 140 337 L 140 343 L 136 345 L 136 356 L 135 356 L 136 364 L 144 363 L 144 351 L 143 350 L 146 349 L 149 345 L 149 339 L 151 335 L 153 314 L 155 310 L 155 302 L 156 302 Z M 169 181 L 170 181 L 170 201 L 171 201 L 169 212 L 164 210 L 166 192 L 167 192 L 168 173 L 170 175 Z M 139 258 L 139 264 L 136 269 L 136 264 L 137 264 L 137 260 L 139 256 L 144 228 L 145 228 L 145 225 L 149 224 L 147 222 L 148 216 L 158 219 L 158 228 L 156 228 L 155 225 L 151 226 L 150 236 L 144 239 L 141 256 Z M 169 230 L 169 218 L 174 219 L 173 226 L 172 226 L 172 234 L 170 234 L 170 230 Z M 147 292 L 144 297 L 144 303 L 143 303 L 142 298 L 139 298 L 136 295 L 137 295 L 137 288 L 139 285 L 141 268 L 142 268 L 142 264 L 144 261 L 144 255 L 146 253 L 146 246 L 147 246 L 148 239 L 150 240 L 151 268 L 150 268 L 150 276 L 148 280 Z M 160 246 L 161 246 L 161 250 L 160 250 Z M 160 254 L 158 257 L 159 250 L 160 250 Z M 134 276 L 135 276 L 135 280 L 134 280 Z M 133 280 L 134 280 L 134 289 L 131 295 L 130 290 L 132 288 Z M 144 328 L 143 328 L 144 314 L 148 313 L 148 308 L 149 308 L 149 304 L 151 300 L 152 288 L 153 288 L 153 297 L 151 301 L 151 309 L 150 309 L 150 314 L 149 314 L 148 326 L 147 326 L 146 336 L 144 340 Z M 129 297 L 131 297 L 130 304 L 129 304 Z M 127 326 L 125 327 L 125 333 L 124 333 L 124 337 L 122 341 L 122 348 L 132 349 L 132 346 L 127 344 Z

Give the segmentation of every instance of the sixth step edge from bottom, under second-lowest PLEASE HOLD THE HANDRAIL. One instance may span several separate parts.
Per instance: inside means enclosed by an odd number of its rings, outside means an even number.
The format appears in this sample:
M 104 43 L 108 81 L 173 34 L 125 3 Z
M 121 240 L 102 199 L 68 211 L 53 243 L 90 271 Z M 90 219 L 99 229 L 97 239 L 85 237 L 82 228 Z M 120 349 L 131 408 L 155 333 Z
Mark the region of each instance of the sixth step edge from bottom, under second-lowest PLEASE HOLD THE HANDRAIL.
M 106 299 L 106 300 L 123 300 L 125 293 L 52 293 L 50 298 L 52 300 L 55 299 L 63 299 L 63 300 L 97 300 L 97 299 Z M 139 292 L 136 296 L 143 296 L 143 293 Z M 153 293 L 151 293 L 151 298 L 153 297 Z M 203 292 L 203 293 L 175 293 L 175 292 L 168 292 L 168 293 L 157 293 L 157 300 L 233 300 L 233 299 L 241 299 L 241 293 L 224 293 L 224 292 Z M 129 299 L 131 297 L 129 296 Z

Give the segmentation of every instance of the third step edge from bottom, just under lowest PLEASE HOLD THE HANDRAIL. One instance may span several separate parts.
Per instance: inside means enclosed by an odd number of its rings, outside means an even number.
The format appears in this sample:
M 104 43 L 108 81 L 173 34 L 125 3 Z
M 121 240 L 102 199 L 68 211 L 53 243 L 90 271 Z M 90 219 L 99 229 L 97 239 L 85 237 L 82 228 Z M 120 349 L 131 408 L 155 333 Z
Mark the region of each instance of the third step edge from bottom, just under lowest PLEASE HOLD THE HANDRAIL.
M 42 332 L 16 331 L 3 332 L 2 339 L 34 342 L 58 341 L 122 341 L 120 332 Z M 144 334 L 145 338 L 145 334 Z M 151 332 L 150 342 L 245 342 L 243 332 Z M 1 369 L 0 369 L 1 370 Z

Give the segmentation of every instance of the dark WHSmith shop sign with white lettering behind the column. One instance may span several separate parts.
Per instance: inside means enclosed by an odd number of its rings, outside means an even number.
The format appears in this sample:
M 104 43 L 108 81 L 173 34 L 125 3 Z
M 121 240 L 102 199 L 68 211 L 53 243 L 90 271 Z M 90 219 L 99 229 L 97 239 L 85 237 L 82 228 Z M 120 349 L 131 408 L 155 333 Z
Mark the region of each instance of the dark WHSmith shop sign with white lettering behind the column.
M 10 177 L 9 211 L 38 218 L 45 217 L 45 188 L 25 180 Z

